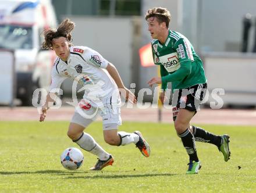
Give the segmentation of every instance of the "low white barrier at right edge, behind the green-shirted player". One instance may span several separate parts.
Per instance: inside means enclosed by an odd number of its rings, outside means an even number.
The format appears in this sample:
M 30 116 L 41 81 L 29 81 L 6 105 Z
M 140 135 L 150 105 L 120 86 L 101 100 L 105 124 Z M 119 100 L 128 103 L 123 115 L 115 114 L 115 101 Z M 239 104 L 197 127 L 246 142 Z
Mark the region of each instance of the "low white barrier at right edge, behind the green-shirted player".
M 208 53 L 204 55 L 208 91 L 225 91 L 219 94 L 223 105 L 256 105 L 256 55 L 251 53 Z M 228 78 L 227 78 L 228 77 Z M 223 95 L 224 94 L 224 95 Z M 215 100 L 214 100 L 215 98 Z M 210 102 L 222 103 L 216 95 L 209 95 Z

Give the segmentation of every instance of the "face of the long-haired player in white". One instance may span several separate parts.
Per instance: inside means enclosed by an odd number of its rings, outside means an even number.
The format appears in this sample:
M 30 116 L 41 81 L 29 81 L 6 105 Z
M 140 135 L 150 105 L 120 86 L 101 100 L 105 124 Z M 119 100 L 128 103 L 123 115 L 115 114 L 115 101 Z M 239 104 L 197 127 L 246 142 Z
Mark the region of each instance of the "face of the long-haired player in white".
M 52 39 L 52 49 L 54 49 L 56 55 L 63 61 L 66 61 L 67 58 L 69 58 L 69 42 L 67 42 L 65 37 Z

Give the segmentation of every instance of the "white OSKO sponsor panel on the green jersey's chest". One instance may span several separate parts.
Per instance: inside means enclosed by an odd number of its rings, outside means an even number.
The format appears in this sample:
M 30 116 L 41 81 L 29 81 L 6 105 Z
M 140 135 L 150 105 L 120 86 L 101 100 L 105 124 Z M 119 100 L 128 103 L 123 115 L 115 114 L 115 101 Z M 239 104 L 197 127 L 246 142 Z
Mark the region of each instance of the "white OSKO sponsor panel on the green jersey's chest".
M 165 56 L 160 56 L 159 61 L 162 63 L 162 65 L 168 72 L 174 72 L 180 68 L 180 62 L 179 59 L 177 58 L 177 52 L 170 53 Z

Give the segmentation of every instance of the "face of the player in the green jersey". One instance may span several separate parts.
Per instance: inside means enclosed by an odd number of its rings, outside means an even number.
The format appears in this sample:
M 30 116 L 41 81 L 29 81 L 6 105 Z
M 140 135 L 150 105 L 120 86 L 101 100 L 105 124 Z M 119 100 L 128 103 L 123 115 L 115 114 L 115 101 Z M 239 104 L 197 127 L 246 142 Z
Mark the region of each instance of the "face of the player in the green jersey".
M 158 39 L 162 36 L 164 30 L 166 30 L 165 23 L 158 23 L 156 17 L 150 17 L 147 19 L 148 31 L 150 31 L 151 37 L 153 39 Z

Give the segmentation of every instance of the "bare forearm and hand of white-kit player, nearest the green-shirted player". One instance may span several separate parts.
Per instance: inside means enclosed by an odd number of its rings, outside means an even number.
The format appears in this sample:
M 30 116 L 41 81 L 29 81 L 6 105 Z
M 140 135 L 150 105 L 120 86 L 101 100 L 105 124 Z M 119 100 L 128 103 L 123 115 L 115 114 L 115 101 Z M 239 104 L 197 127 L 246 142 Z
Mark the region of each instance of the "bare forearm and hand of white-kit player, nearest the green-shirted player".
M 124 89 L 126 91 L 126 96 L 124 97 L 128 99 L 130 102 L 136 103 L 137 102 L 136 96 L 128 88 L 126 88 L 125 85 L 123 85 L 123 81 L 118 73 L 118 70 L 116 70 L 116 67 L 112 65 L 112 63 L 108 63 L 106 70 L 108 71 L 110 76 L 113 78 L 116 85 L 118 85 L 118 88 Z

